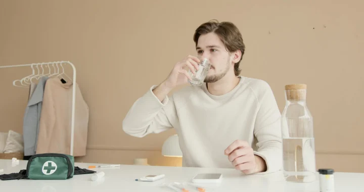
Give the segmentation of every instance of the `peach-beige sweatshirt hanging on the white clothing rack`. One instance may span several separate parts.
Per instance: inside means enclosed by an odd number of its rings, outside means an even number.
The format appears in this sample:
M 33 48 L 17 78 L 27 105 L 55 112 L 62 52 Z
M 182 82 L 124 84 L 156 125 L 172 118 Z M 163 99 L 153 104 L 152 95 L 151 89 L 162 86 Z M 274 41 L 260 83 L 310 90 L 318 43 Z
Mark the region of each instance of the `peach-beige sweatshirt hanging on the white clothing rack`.
M 58 77 L 45 83 L 36 154 L 70 154 L 72 87 L 72 82 L 64 84 Z M 73 156 L 85 156 L 88 106 L 77 84 L 75 101 Z

